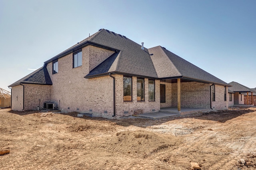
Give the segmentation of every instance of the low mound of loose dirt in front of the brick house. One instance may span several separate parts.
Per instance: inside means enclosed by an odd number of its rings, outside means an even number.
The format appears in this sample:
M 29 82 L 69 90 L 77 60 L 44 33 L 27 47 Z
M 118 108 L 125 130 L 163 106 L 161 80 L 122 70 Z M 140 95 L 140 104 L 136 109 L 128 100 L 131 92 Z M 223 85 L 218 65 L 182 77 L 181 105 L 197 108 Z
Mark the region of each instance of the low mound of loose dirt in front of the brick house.
M 117 132 L 115 136 L 107 138 L 103 148 L 118 150 L 118 152 L 148 157 L 154 152 L 165 148 L 177 146 L 182 142 L 181 138 L 173 135 L 163 135 L 144 130 Z

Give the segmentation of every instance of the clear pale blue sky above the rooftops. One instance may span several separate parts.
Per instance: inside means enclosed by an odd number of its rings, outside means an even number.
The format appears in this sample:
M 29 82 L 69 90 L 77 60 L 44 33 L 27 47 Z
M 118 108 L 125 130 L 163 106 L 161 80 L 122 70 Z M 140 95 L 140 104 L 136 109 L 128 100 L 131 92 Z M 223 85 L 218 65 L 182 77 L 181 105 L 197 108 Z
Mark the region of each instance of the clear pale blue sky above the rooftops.
M 0 0 L 0 88 L 104 28 L 256 87 L 256 0 Z

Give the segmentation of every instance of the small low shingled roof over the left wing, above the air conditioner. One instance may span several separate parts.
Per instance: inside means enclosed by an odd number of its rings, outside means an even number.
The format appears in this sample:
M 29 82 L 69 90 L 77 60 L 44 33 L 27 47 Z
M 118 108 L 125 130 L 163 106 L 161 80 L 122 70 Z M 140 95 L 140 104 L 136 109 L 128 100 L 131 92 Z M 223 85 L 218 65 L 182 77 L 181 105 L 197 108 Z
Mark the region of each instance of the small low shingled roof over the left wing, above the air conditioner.
M 52 85 L 52 80 L 46 67 L 41 67 L 38 70 L 28 74 L 24 78 L 11 84 L 9 87 L 17 86 L 20 83 Z

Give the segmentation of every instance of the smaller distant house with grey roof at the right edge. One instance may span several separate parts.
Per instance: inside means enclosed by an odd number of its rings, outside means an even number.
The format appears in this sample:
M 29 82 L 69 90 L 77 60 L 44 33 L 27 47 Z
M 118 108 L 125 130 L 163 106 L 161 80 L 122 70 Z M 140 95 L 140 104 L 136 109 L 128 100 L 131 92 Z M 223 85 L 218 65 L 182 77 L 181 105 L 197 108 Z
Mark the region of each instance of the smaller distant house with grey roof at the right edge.
M 232 90 L 234 93 L 234 105 L 240 105 L 240 104 L 252 104 L 252 102 L 248 102 L 249 93 L 256 92 L 255 90 L 248 88 L 242 84 L 239 84 L 238 82 L 230 82 L 229 83 L 232 87 L 229 87 L 229 90 Z M 244 98 L 247 98 L 246 102 L 244 101 Z

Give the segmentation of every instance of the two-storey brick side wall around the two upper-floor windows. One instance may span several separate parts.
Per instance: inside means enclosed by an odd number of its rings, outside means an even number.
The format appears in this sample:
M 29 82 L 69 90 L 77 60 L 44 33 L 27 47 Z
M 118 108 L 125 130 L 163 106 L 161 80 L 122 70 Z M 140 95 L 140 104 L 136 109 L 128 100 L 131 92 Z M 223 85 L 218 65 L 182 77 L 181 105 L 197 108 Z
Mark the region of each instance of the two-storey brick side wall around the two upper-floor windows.
M 90 57 L 90 54 L 98 59 Z M 112 54 L 109 50 L 86 46 L 82 49 L 82 66 L 73 68 L 73 54 L 68 54 L 58 60 L 56 74 L 52 74 L 52 63 L 49 63 L 47 69 L 53 83 L 52 102 L 57 103 L 64 112 L 88 112 L 94 116 L 112 118 L 113 79 L 110 76 L 84 78 L 89 68 L 93 69 Z

